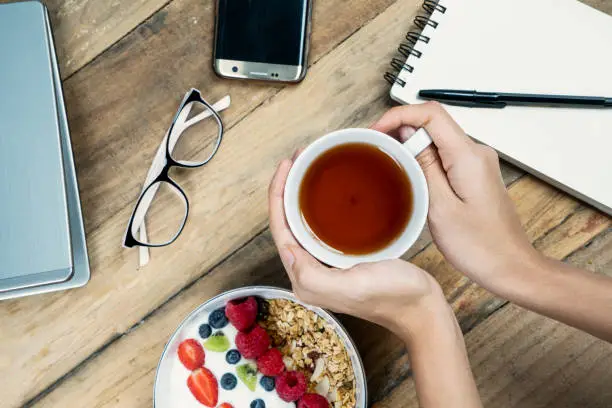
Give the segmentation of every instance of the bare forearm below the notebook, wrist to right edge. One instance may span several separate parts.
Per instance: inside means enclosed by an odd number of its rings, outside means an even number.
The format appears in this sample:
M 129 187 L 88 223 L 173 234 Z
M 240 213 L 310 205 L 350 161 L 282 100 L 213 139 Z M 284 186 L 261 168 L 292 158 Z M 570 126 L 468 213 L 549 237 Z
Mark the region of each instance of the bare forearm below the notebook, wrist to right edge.
M 612 342 L 612 278 L 535 257 L 493 290 L 513 303 Z

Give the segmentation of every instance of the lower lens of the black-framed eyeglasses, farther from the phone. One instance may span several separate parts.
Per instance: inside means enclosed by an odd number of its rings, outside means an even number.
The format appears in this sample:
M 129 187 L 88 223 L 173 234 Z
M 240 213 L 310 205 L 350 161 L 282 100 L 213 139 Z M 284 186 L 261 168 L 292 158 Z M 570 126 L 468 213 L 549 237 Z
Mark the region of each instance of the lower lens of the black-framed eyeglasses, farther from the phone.
M 172 242 L 187 219 L 187 200 L 172 184 L 159 181 L 142 196 L 134 213 L 132 234 L 143 244 L 165 245 Z M 146 222 L 146 236 L 139 232 Z

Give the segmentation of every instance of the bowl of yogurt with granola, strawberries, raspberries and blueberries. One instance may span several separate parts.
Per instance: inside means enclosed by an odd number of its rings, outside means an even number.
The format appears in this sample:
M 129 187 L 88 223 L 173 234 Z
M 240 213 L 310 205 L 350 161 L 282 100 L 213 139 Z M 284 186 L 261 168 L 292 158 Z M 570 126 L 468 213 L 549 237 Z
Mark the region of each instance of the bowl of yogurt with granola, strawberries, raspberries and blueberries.
M 267 333 L 268 351 L 282 355 L 277 376 L 264 375 L 262 358 L 247 358 L 253 356 L 241 348 L 249 344 L 241 331 L 255 330 L 237 324 L 238 330 L 232 323 L 228 304 L 254 304 L 253 299 L 258 307 L 253 326 Z M 291 395 L 286 379 L 296 375 L 305 385 Z M 299 395 L 306 394 L 318 394 L 333 408 L 367 406 L 355 344 L 329 312 L 300 302 L 290 291 L 251 286 L 204 302 L 180 323 L 159 360 L 153 402 L 155 408 L 295 408 L 302 405 L 300 398 L 308 398 Z

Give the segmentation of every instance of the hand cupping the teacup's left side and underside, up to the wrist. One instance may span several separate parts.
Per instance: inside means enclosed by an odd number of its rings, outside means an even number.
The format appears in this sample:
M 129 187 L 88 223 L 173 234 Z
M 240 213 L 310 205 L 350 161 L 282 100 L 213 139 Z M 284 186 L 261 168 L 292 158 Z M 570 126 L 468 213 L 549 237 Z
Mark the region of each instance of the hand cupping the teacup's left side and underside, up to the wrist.
M 436 318 L 452 319 L 438 283 L 401 260 L 340 270 L 300 247 L 285 218 L 283 192 L 292 161 L 280 163 L 269 189 L 270 229 L 293 291 L 304 302 L 378 323 L 407 337 Z

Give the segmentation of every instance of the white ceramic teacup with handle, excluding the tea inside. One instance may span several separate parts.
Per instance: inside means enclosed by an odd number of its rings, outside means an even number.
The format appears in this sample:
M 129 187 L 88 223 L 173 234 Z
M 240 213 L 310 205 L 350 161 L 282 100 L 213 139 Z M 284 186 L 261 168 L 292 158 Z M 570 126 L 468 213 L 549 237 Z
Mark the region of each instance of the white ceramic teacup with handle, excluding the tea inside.
M 317 238 L 308 227 L 299 204 L 302 179 L 312 162 L 327 150 L 347 143 L 367 143 L 382 149 L 404 169 L 412 187 L 412 214 L 402 233 L 385 248 L 364 255 L 344 254 Z M 316 140 L 296 159 L 285 185 L 285 214 L 295 238 L 315 258 L 336 268 L 350 268 L 362 262 L 376 262 L 402 256 L 417 240 L 427 219 L 429 206 L 427 182 L 415 157 L 429 144 L 431 138 L 425 129 L 419 129 L 403 145 L 392 137 L 371 129 L 342 129 Z

